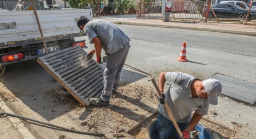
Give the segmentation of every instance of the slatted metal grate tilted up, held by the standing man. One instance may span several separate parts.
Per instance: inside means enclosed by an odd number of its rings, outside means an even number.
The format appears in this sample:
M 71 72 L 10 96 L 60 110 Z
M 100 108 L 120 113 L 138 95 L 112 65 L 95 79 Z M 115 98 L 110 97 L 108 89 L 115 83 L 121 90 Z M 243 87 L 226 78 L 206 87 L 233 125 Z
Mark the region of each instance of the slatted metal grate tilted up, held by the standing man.
M 63 49 L 38 58 L 46 69 L 83 106 L 91 97 L 99 97 L 104 87 L 104 69 L 79 46 Z

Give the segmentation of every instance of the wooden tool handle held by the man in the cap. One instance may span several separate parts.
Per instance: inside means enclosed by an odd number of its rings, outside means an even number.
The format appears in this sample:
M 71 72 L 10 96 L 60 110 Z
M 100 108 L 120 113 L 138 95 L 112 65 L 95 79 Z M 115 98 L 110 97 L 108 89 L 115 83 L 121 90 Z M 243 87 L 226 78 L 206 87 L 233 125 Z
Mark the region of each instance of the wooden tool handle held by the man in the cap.
M 153 85 L 155 86 L 155 89 L 156 89 L 157 94 L 158 94 L 160 97 L 163 97 L 162 94 L 161 94 L 161 91 L 160 91 L 159 87 L 158 87 L 157 84 L 156 84 L 155 79 L 154 79 L 154 78 L 151 78 L 151 81 L 152 81 Z M 166 109 L 168 115 L 170 116 L 171 121 L 173 121 L 173 124 L 174 124 L 174 126 L 175 126 L 177 132 L 179 133 L 180 138 L 182 138 L 183 135 L 182 135 L 182 133 L 181 133 L 181 131 L 180 131 L 180 128 L 179 128 L 179 126 L 177 125 L 177 123 L 176 123 L 176 121 L 175 121 L 175 118 L 173 117 L 173 113 L 171 113 L 171 111 L 170 111 L 170 109 L 169 109 L 167 103 L 164 103 L 164 107 L 165 107 L 165 109 Z

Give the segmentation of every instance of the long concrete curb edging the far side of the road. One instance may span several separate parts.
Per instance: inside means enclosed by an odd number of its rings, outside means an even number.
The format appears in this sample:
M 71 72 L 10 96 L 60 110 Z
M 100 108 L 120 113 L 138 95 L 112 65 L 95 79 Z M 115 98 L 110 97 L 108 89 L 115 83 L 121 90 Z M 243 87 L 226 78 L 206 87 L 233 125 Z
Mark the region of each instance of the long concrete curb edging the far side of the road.
M 199 31 L 211 31 L 211 32 L 221 32 L 221 33 L 243 34 L 243 35 L 248 35 L 248 36 L 256 36 L 256 32 L 234 31 L 234 30 L 228 30 L 228 29 L 172 26 L 172 25 L 164 25 L 164 24 L 147 24 L 147 23 L 133 23 L 133 22 L 121 22 L 121 21 L 115 21 L 115 22 L 112 22 L 112 23 L 115 23 L 115 24 L 128 24 L 128 25 L 134 25 L 134 26 L 150 26 L 150 27 L 192 29 L 192 30 L 199 30 Z

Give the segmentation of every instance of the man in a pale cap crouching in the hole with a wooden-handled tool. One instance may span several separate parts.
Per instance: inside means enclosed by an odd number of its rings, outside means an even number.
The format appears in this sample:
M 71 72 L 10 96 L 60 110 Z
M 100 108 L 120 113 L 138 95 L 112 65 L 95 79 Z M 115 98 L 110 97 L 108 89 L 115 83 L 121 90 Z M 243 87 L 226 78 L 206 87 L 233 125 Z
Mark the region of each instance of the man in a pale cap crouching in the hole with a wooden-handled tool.
M 170 85 L 164 92 L 164 85 Z M 209 103 L 218 105 L 222 85 L 218 80 L 200 80 L 181 72 L 161 72 L 158 81 L 163 97 L 157 96 L 160 104 L 157 120 L 150 127 L 151 138 L 179 138 L 171 118 L 164 107 L 167 103 L 183 138 L 189 139 L 190 131 L 207 115 Z M 192 113 L 194 115 L 192 116 Z

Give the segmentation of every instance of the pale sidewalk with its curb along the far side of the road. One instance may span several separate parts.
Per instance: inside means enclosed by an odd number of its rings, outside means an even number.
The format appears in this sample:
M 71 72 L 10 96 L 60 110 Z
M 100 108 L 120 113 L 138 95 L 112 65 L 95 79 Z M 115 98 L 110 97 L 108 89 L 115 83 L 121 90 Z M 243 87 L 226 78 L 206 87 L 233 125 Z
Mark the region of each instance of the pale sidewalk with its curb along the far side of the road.
M 124 18 L 122 18 L 124 17 Z M 163 22 L 156 19 L 136 19 L 125 18 L 125 16 L 101 16 L 93 17 L 93 19 L 105 19 L 116 24 L 130 24 L 137 26 L 151 26 L 151 27 L 166 27 L 166 28 L 181 28 L 194 29 L 199 31 L 223 32 L 233 34 L 243 34 L 249 36 L 256 36 L 255 25 L 243 25 L 235 23 L 215 23 L 215 22 Z

